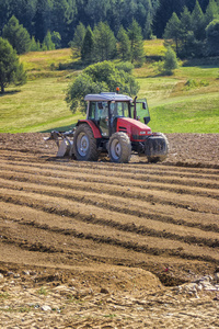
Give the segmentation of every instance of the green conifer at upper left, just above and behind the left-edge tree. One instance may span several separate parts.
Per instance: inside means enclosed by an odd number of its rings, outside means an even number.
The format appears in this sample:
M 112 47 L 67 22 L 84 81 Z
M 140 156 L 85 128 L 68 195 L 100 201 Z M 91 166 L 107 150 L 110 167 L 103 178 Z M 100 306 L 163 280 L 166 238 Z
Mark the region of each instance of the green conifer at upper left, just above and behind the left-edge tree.
M 7 38 L 18 54 L 23 54 L 30 50 L 31 37 L 26 29 L 19 24 L 19 20 L 12 16 L 8 25 L 3 27 L 3 38 Z

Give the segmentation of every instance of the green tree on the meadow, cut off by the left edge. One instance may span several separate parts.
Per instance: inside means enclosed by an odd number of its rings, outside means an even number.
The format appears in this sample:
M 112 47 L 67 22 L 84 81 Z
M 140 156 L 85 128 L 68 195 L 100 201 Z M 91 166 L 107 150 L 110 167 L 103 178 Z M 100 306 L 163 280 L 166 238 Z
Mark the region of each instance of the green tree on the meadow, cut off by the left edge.
M 4 93 L 4 88 L 14 83 L 16 86 L 26 82 L 26 73 L 23 65 L 19 63 L 19 56 L 7 39 L 0 37 L 0 88 Z

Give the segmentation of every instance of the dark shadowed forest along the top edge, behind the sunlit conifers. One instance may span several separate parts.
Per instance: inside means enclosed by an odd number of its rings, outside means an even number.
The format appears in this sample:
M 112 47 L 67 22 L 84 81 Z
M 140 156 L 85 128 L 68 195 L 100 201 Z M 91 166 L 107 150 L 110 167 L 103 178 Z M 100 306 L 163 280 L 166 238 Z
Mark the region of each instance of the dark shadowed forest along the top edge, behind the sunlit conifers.
M 217 4 L 218 4 L 218 0 Z M 81 22 L 93 30 L 100 22 L 117 35 L 135 19 L 143 38 L 162 37 L 173 12 L 184 7 L 192 12 L 196 0 L 0 0 L 0 35 L 14 15 L 36 43 L 43 44 L 48 31 L 60 35 L 59 46 L 67 47 Z M 209 0 L 199 0 L 205 12 Z

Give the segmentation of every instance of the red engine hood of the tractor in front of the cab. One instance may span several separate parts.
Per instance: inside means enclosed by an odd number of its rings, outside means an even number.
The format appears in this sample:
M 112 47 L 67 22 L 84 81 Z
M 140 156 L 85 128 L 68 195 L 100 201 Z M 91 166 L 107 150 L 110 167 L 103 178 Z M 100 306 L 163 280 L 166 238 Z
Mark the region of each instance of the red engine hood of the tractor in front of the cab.
M 152 135 L 150 127 L 131 117 L 118 117 L 116 131 L 126 133 L 130 141 L 143 141 Z

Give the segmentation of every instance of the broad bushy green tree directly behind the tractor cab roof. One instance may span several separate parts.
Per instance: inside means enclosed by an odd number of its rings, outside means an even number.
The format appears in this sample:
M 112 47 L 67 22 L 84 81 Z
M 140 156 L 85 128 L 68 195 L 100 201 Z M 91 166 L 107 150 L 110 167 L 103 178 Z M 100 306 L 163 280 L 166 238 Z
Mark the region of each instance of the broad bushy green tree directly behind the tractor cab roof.
M 100 93 L 103 91 L 115 92 L 119 87 L 120 92 L 135 95 L 139 91 L 139 84 L 135 78 L 117 69 L 112 61 L 102 61 L 90 65 L 76 78 L 67 91 L 66 101 L 74 113 L 77 110 L 84 111 L 84 97 L 88 93 Z

